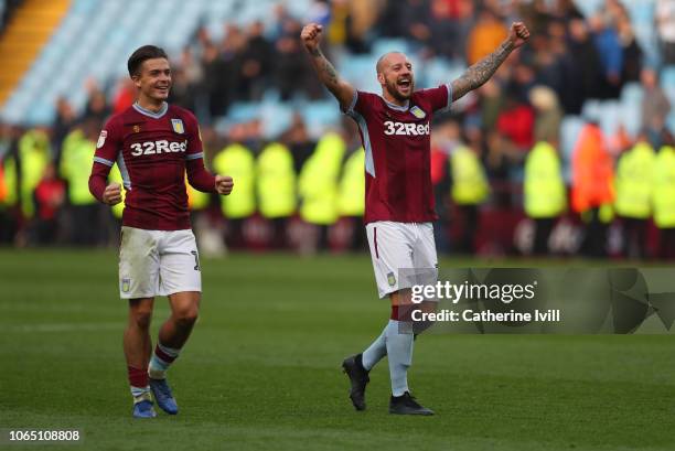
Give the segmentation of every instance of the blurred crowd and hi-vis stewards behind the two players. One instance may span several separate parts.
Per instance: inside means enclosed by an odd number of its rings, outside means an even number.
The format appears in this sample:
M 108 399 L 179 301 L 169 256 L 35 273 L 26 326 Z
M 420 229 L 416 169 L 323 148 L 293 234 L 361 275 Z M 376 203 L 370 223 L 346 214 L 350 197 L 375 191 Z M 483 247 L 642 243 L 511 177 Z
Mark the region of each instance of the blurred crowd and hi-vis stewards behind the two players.
M 203 246 L 365 246 L 363 150 L 349 120 L 317 133 L 296 114 L 271 138 L 259 118 L 228 120 L 238 101 L 329 98 L 301 47 L 303 22 L 324 25 L 329 57 L 368 55 L 378 40 L 405 37 L 420 66 L 468 66 L 523 20 L 528 45 L 433 125 L 439 249 L 675 257 L 675 150 L 660 83 L 675 65 L 675 1 L 656 0 L 657 58 L 645 56 L 620 0 L 587 17 L 571 0 L 314 0 L 303 18 L 282 3 L 274 15 L 274 25 L 224 23 L 218 39 L 202 26 L 172 62 L 171 101 L 195 111 L 207 165 L 236 183 L 223 200 L 190 193 Z M 640 124 L 608 135 L 585 105 L 618 99 L 626 87 L 642 93 Z M 0 129 L 0 243 L 116 243 L 121 212 L 98 205 L 86 179 L 101 124 L 131 105 L 135 89 L 128 79 L 87 89 L 86 108 L 60 99 L 50 127 Z M 570 117 L 580 126 L 566 155 L 561 124 Z

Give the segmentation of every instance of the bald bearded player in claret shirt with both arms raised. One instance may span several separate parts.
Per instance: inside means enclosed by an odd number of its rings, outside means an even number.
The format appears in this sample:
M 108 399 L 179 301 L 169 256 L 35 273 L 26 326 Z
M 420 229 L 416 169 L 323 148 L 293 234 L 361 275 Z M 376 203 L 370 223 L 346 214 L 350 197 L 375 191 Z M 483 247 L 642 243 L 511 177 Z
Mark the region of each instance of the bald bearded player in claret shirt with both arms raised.
M 382 334 L 363 353 L 342 366 L 351 383 L 350 397 L 364 410 L 368 373 L 385 355 L 389 361 L 389 412 L 432 415 L 408 389 L 416 325 L 411 324 L 410 281 L 403 269 L 438 277 L 431 223 L 437 218 L 430 174 L 430 124 L 435 112 L 483 85 L 514 49 L 529 37 L 522 22 L 492 54 L 458 79 L 431 89 L 415 90 L 413 65 L 405 54 L 390 52 L 376 65 L 382 95 L 357 92 L 344 80 L 320 49 L 322 26 L 306 25 L 302 42 L 319 79 L 335 96 L 342 111 L 358 125 L 365 149 L 366 210 L 364 222 L 381 298 L 388 297 L 392 315 Z

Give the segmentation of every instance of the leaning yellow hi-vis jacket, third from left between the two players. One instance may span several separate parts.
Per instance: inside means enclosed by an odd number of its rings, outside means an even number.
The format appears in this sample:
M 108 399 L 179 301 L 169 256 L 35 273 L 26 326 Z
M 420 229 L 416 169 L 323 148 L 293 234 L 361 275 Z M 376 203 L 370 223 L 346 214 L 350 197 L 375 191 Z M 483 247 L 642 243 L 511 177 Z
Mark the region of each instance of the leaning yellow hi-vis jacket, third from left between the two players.
M 300 216 L 308 223 L 330 225 L 338 219 L 338 179 L 344 152 L 340 135 L 329 132 L 304 162 L 298 189 L 302 201 Z

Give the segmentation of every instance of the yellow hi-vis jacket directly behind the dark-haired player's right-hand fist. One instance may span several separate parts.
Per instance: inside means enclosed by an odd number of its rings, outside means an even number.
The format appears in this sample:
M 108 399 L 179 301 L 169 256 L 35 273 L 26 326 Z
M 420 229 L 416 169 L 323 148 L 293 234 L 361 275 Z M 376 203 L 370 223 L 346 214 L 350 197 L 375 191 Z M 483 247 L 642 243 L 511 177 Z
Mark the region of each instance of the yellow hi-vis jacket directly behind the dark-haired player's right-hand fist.
M 253 152 L 239 143 L 232 143 L 213 159 L 213 169 L 218 174 L 232 176 L 236 186 L 229 195 L 221 196 L 223 214 L 231 219 L 250 216 L 256 211 Z

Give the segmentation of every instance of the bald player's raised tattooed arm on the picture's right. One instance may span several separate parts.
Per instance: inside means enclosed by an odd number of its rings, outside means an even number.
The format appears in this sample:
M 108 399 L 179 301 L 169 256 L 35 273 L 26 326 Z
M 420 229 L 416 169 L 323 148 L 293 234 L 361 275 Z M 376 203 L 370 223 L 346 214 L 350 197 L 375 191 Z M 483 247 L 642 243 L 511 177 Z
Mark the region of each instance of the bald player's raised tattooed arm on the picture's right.
M 513 23 L 508 37 L 502 42 L 497 50 L 469 67 L 462 76 L 452 82 L 452 100 L 457 100 L 470 90 L 481 87 L 506 61 L 511 52 L 525 44 L 528 39 L 527 26 L 523 22 Z

